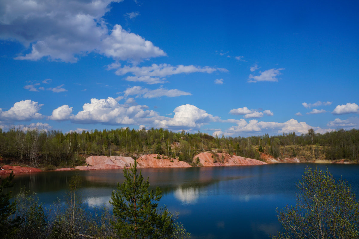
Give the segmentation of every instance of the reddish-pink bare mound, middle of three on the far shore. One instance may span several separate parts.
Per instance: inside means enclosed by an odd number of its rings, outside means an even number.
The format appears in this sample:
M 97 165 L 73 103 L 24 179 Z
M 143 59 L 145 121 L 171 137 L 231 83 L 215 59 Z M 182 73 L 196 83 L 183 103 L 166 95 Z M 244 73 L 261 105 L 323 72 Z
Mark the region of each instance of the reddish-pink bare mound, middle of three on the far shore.
M 160 158 L 160 159 L 158 159 Z M 166 156 L 158 154 L 147 154 L 137 159 L 139 168 L 188 168 L 188 163 L 177 159 L 165 159 Z

